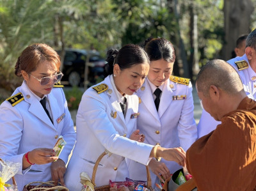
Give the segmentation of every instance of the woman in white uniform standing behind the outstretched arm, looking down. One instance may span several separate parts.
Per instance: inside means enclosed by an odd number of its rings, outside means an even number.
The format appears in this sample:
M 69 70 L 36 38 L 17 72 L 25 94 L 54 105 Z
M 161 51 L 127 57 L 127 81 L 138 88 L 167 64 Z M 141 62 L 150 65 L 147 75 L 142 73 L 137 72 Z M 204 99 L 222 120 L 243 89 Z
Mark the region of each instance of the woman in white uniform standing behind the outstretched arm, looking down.
M 193 118 L 192 85 L 189 79 L 172 76 L 175 52 L 172 43 L 164 38 L 150 38 L 145 42 L 150 58 L 150 69 L 144 84 L 136 92 L 140 97 L 137 128 L 145 135 L 145 143 L 164 148 L 181 146 L 185 151 L 196 141 L 196 123 Z M 158 94 L 157 94 L 158 93 Z M 143 165 L 128 161 L 132 179 L 147 180 Z M 158 178 L 170 177 L 181 168 L 172 161 L 150 160 L 152 185 Z M 158 177 L 158 178 L 157 178 Z

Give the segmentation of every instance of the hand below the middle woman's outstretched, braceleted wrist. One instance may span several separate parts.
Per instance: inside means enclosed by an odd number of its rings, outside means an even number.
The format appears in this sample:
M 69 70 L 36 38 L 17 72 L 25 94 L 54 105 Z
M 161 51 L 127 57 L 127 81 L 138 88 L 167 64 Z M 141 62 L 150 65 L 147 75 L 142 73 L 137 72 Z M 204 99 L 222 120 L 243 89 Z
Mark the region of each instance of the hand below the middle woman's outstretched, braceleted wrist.
M 150 162 L 148 163 L 148 167 L 154 174 L 156 174 L 156 176 L 161 181 L 164 181 L 167 178 L 170 178 L 171 176 L 168 167 L 166 167 L 166 165 L 163 162 L 157 162 L 154 158 L 150 160 Z M 163 176 L 164 180 L 161 177 L 161 175 Z

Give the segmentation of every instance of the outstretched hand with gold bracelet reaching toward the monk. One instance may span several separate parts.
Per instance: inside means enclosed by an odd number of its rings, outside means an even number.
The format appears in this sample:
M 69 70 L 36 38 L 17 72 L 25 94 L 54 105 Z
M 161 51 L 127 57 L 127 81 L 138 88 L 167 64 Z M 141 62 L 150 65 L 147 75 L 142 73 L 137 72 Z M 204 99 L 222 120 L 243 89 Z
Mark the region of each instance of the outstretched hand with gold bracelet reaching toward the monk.
M 158 152 L 158 148 L 157 148 Z M 159 148 L 160 157 L 163 157 L 165 160 L 172 160 L 177 162 L 177 164 L 184 166 L 186 160 L 186 152 L 181 147 L 178 148 Z

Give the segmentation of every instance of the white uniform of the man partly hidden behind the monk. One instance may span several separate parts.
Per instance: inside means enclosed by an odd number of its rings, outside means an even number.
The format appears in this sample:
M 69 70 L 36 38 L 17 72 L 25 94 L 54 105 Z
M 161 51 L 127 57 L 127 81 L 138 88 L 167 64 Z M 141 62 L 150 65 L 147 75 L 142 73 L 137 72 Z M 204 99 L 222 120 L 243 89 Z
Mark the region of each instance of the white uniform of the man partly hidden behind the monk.
M 237 61 L 246 61 L 248 68 L 243 70 L 238 70 L 235 62 Z M 242 57 L 237 56 L 233 59 L 227 61 L 231 66 L 235 68 L 239 77 L 243 83 L 244 91 L 249 98 L 256 100 L 256 73 L 252 70 L 252 67 L 249 64 L 249 61 L 244 54 Z M 216 129 L 216 126 L 220 124 L 220 121 L 216 121 L 212 116 L 206 112 L 204 109 L 202 111 L 202 116 L 198 123 L 198 138 L 209 134 L 212 130 Z

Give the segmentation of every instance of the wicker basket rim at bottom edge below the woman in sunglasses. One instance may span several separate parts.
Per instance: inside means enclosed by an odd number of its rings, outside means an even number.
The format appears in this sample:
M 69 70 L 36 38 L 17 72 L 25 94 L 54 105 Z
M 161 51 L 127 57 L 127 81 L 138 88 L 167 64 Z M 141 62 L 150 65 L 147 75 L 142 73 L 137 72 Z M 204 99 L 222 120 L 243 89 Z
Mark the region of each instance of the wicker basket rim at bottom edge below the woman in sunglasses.
M 32 184 L 37 184 L 37 185 L 32 185 Z M 54 191 L 54 190 L 61 190 L 61 191 L 68 191 L 67 187 L 63 187 L 60 185 L 55 186 L 54 181 L 34 181 L 31 183 L 28 183 L 28 185 L 25 185 L 23 188 L 23 191 Z

